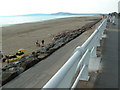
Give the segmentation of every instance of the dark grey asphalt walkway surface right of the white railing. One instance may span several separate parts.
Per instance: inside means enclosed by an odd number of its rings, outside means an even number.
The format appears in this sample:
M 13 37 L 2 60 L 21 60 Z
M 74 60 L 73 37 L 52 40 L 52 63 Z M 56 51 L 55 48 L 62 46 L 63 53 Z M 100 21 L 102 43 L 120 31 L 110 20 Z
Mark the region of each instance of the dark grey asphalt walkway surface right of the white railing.
M 118 88 L 118 34 L 120 34 L 120 19 L 116 18 L 116 25 L 108 23 L 107 38 L 102 51 L 102 73 L 96 79 L 94 88 Z

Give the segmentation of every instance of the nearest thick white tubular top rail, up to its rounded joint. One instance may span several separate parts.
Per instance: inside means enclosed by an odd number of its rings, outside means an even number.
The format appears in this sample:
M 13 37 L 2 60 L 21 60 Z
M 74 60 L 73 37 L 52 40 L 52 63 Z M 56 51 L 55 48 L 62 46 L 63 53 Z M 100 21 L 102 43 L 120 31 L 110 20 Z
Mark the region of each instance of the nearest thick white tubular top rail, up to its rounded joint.
M 72 57 L 63 65 L 63 67 L 48 81 L 43 88 L 55 88 L 60 81 L 64 78 L 65 74 L 69 71 L 76 59 L 80 56 L 80 52 L 76 51 Z

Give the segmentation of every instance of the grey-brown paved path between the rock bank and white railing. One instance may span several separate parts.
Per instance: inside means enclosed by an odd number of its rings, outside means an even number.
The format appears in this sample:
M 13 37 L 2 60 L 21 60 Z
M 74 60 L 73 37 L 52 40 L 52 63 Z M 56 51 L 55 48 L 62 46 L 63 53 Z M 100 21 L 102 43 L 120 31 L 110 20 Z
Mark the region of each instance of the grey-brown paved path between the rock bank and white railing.
M 95 28 L 98 27 L 99 24 Z M 82 45 L 95 30 L 84 32 L 65 46 L 58 49 L 48 58 L 8 82 L 3 88 L 41 88 L 71 57 L 75 48 Z

